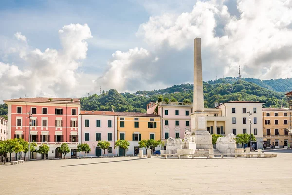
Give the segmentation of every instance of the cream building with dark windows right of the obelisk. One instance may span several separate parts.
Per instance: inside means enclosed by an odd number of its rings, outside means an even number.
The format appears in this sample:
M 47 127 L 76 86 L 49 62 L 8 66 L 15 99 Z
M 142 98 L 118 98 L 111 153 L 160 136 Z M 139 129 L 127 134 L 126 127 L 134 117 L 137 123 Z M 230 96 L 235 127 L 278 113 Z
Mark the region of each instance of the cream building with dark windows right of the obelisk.
M 226 117 L 223 134 L 254 134 L 256 142 L 252 144 L 256 144 L 256 149 L 263 148 L 263 104 L 263 102 L 230 101 L 217 106 L 218 109 L 221 109 L 222 116 Z M 241 147 L 241 145 L 237 144 L 237 147 Z

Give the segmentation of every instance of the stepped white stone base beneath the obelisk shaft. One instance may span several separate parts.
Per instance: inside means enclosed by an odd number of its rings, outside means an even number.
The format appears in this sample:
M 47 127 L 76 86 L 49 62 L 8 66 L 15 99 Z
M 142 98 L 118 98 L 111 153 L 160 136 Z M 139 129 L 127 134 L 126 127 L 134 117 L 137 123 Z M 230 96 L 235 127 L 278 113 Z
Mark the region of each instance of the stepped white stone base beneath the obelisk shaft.
M 212 149 L 212 135 L 207 129 L 207 113 L 196 111 L 191 114 L 192 133 L 195 134 L 197 149 Z

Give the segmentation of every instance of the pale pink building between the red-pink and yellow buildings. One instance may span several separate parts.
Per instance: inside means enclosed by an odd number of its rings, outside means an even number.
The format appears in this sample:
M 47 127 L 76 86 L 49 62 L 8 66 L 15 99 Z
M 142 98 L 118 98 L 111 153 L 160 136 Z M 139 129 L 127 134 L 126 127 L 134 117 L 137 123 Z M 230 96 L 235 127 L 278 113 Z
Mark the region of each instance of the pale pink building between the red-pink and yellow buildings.
M 117 114 L 111 111 L 81 111 L 81 143 L 87 143 L 91 152 L 86 156 L 101 156 L 98 141 L 109 141 L 110 148 L 105 151 L 105 156 L 116 156 L 114 143 L 117 140 Z M 83 153 L 80 153 L 83 156 Z

